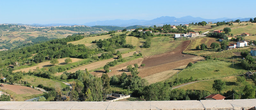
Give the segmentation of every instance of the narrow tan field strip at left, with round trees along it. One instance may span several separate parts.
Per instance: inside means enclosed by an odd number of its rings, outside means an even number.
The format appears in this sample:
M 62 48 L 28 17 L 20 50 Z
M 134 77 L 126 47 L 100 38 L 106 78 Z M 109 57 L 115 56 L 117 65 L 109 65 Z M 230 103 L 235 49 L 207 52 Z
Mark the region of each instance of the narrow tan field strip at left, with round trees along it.
M 59 61 L 59 64 L 56 64 L 56 66 L 63 66 L 63 65 L 66 65 L 65 64 L 65 59 L 67 58 L 62 58 L 62 59 L 58 59 Z M 77 59 L 77 58 L 70 58 L 72 60 L 72 62 L 77 62 L 77 61 L 81 61 L 81 60 L 84 60 L 84 59 Z M 18 69 L 18 70 L 14 70 L 13 72 L 18 72 L 18 71 L 25 71 L 25 72 L 28 72 L 29 70 L 31 70 L 32 72 L 33 71 L 36 71 L 36 67 L 39 67 L 39 69 L 43 68 L 43 67 L 51 67 L 52 64 L 50 63 L 50 61 L 45 61 L 45 62 L 41 62 L 41 63 L 37 63 L 36 66 L 33 66 L 33 67 L 27 67 L 27 68 L 23 68 L 23 69 Z

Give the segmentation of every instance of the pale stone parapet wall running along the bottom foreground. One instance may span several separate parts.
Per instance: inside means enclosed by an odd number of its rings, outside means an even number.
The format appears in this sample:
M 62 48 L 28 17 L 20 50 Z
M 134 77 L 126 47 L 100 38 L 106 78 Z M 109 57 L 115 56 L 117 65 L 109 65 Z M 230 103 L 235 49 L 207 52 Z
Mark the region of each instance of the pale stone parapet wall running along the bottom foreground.
M 0 110 L 255 110 L 255 106 L 256 99 L 123 102 L 0 101 Z

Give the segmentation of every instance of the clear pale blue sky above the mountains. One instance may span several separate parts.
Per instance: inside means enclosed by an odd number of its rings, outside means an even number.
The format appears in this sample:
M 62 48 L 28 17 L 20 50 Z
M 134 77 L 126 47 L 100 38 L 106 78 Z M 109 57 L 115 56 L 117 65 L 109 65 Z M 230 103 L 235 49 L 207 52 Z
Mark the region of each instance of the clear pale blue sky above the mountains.
M 256 17 L 241 0 L 0 0 L 0 23 L 83 24 L 97 20 L 152 20 L 161 16 Z

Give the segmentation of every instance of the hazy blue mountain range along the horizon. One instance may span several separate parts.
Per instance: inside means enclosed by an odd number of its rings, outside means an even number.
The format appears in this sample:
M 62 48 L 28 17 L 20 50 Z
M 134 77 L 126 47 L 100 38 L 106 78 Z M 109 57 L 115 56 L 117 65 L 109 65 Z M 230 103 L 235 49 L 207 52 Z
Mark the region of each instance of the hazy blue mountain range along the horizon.
M 31 24 L 29 26 L 37 26 L 37 27 L 45 27 L 45 26 L 72 26 L 72 25 L 85 25 L 85 26 L 119 26 L 119 27 L 129 27 L 134 25 L 141 25 L 141 26 L 163 26 L 164 24 L 171 24 L 171 25 L 179 25 L 179 24 L 188 24 L 188 23 L 196 23 L 196 22 L 222 22 L 222 21 L 235 21 L 240 19 L 240 21 L 248 21 L 251 18 L 217 18 L 217 19 L 204 19 L 200 17 L 192 17 L 192 16 L 185 16 L 181 18 L 170 17 L 170 16 L 162 16 L 153 20 L 104 20 L 104 21 L 95 21 L 89 22 L 84 24 Z M 253 18 L 252 18 L 253 19 Z M 28 25 L 28 24 L 26 24 Z

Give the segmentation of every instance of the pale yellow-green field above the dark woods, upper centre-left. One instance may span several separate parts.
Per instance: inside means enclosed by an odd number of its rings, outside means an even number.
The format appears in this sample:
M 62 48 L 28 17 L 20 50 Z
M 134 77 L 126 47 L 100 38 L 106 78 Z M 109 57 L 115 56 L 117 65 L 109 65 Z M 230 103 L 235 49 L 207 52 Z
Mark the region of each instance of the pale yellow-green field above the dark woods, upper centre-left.
M 118 34 L 122 34 L 122 32 L 116 32 L 114 33 L 115 35 L 118 35 Z M 77 41 L 73 41 L 73 42 L 68 42 L 68 43 L 72 43 L 74 45 L 77 45 L 77 44 L 84 44 L 85 46 L 91 46 L 91 45 L 95 45 L 96 43 L 92 43 L 92 41 L 95 41 L 95 40 L 100 40 L 100 39 L 107 39 L 107 38 L 110 38 L 112 36 L 110 36 L 109 34 L 108 35 L 100 35 L 100 36 L 93 36 L 93 37 L 85 37 L 83 39 L 80 39 L 80 40 L 77 40 Z

